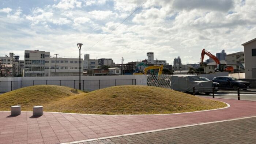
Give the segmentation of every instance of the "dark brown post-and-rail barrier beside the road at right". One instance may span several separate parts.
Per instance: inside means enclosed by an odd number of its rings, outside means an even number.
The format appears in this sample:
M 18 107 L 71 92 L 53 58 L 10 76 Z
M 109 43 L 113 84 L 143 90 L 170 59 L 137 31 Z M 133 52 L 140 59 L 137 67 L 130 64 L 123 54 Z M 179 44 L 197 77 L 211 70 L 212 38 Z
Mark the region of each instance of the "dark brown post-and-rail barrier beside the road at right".
M 215 93 L 218 91 L 237 94 L 237 100 L 240 100 L 240 94 L 256 94 L 256 88 L 247 88 L 247 90 L 243 90 L 243 88 L 193 87 L 193 95 L 196 95 L 197 92 L 212 93 L 212 98 L 214 98 Z

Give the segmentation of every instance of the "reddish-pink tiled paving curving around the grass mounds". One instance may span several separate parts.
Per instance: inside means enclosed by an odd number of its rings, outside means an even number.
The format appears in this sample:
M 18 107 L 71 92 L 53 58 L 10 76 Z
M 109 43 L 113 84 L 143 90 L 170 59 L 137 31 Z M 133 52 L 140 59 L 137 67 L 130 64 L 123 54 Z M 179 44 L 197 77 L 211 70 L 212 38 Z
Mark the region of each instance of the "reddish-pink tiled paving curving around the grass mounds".
M 221 110 L 171 115 L 80 115 L 31 112 L 11 117 L 0 112 L 0 144 L 64 143 L 98 137 L 163 129 L 174 126 L 228 120 L 256 115 L 256 102 L 217 99 L 230 107 Z

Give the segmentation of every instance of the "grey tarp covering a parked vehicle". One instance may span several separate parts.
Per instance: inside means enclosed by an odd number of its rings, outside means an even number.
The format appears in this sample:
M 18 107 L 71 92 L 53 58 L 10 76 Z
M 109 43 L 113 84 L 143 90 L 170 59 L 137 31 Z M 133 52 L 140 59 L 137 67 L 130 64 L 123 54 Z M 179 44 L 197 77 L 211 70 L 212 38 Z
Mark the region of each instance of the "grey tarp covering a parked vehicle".
M 193 75 L 173 75 L 170 85 L 176 91 L 193 92 L 193 87 L 212 87 L 212 81 L 203 81 Z

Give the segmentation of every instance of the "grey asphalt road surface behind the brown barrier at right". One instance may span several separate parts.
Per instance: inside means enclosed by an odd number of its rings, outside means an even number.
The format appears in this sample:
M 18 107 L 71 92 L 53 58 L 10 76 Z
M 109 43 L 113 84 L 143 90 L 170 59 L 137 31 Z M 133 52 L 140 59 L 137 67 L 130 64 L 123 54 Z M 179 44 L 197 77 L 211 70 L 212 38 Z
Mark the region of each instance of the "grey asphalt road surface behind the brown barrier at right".
M 245 92 L 246 94 L 243 94 Z M 212 97 L 212 94 L 205 95 L 203 93 L 197 94 L 198 96 Z M 227 99 L 237 99 L 236 91 L 218 91 L 215 92 L 215 98 L 227 98 Z M 246 90 L 240 92 L 240 100 L 256 101 L 256 92 L 252 90 Z

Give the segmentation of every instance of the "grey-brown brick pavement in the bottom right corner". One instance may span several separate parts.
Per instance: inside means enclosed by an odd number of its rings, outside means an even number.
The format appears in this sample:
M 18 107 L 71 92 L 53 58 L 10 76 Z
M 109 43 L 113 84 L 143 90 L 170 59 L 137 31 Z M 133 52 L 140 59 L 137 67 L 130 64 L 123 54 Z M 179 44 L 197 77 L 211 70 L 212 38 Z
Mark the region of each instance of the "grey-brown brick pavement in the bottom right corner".
M 94 140 L 80 144 L 252 144 L 256 143 L 256 118 L 246 118 L 187 128 Z

